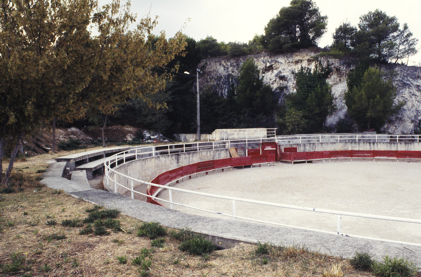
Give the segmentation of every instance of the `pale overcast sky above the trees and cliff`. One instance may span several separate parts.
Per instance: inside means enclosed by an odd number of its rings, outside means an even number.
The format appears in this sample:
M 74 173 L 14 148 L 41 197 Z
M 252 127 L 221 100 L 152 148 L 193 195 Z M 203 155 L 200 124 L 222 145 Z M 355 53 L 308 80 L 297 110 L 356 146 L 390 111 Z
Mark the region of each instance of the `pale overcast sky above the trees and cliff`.
M 101 1 L 102 2 L 102 1 Z M 408 23 L 414 37 L 421 40 L 421 0 L 313 0 L 320 13 L 328 16 L 328 30 L 319 46 L 332 43 L 332 33 L 343 22 L 357 25 L 360 16 L 377 8 L 389 16 L 396 16 L 402 25 Z M 138 18 L 150 10 L 160 16 L 155 34 L 165 30 L 172 37 L 181 28 L 196 41 L 213 36 L 218 42 L 248 42 L 254 34 L 263 34 L 264 26 L 290 0 L 133 0 L 131 11 Z M 190 18 L 190 21 L 188 21 Z M 420 43 L 417 45 L 418 52 Z M 421 62 L 421 53 L 410 58 L 410 64 Z

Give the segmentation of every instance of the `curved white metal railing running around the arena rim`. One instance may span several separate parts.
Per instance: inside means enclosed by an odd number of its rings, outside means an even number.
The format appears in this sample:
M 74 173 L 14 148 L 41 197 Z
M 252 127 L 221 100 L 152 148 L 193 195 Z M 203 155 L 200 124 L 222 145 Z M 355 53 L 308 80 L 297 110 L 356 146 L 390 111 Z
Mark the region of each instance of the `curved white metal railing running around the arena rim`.
M 233 137 L 235 138 L 235 137 Z M 120 163 L 125 163 L 126 159 L 140 159 L 140 158 L 147 158 L 151 156 L 160 156 L 160 155 L 168 155 L 172 153 L 185 153 L 185 152 L 192 152 L 192 151 L 203 151 L 203 150 L 216 150 L 216 149 L 226 149 L 233 145 L 238 147 L 248 147 L 248 146 L 254 146 L 258 145 L 258 143 L 261 143 L 263 141 L 274 141 L 276 140 L 280 144 L 296 144 L 296 143 L 314 143 L 314 142 L 421 142 L 420 135 L 354 135 L 354 134 L 344 134 L 344 135 L 297 135 L 297 136 L 277 136 L 277 137 L 260 137 L 260 138 L 248 138 L 245 139 L 229 139 L 225 141 L 215 141 L 215 142 L 189 142 L 189 143 L 181 143 L 181 144 L 170 144 L 170 145 L 153 145 L 153 146 L 144 146 L 139 147 L 131 150 L 126 150 L 120 153 L 117 153 L 107 159 L 107 161 L 104 163 L 105 165 L 105 179 L 106 183 L 109 186 L 110 183 L 112 183 L 112 187 L 114 187 L 114 192 L 117 192 L 117 187 L 122 187 L 123 189 L 126 189 L 131 192 L 131 198 L 134 197 L 134 194 L 144 195 L 147 197 L 151 197 L 156 200 L 160 200 L 166 203 L 169 203 L 170 208 L 173 208 L 173 205 L 183 206 L 186 208 L 192 208 L 199 211 L 206 211 L 213 214 L 221 214 L 223 216 L 230 216 L 233 219 L 244 219 L 248 221 L 253 222 L 260 222 L 260 223 L 266 223 L 266 224 L 273 224 L 278 226 L 284 226 L 284 227 L 291 227 L 296 229 L 302 229 L 302 230 L 311 230 L 311 231 L 317 231 L 317 232 L 324 232 L 324 233 L 330 233 L 330 234 L 337 234 L 337 235 L 346 235 L 351 237 L 361 237 L 361 238 L 368 238 L 371 240 L 380 240 L 380 241 L 386 241 L 386 242 L 393 242 L 393 243 L 404 243 L 408 245 L 418 245 L 421 246 L 421 244 L 417 243 L 405 243 L 400 241 L 394 241 L 394 240 L 385 240 L 381 238 L 374 238 L 374 237 L 365 237 L 360 235 L 349 235 L 349 234 L 343 234 L 341 233 L 341 217 L 342 216 L 354 216 L 354 217 L 362 217 L 362 218 L 370 218 L 370 219 L 382 219 L 382 220 L 390 220 L 390 221 L 397 221 L 397 222 L 409 222 L 409 223 L 418 223 L 421 224 L 421 219 L 408 219 L 408 218 L 400 218 L 400 217 L 392 217 L 392 216 L 378 216 L 378 215 L 372 215 L 372 214 L 358 214 L 358 213 L 351 213 L 346 211 L 334 211 L 334 210 L 327 210 L 327 209 L 319 209 L 319 208 L 308 208 L 308 207 L 300 207 L 300 206 L 292 206 L 292 205 L 285 205 L 280 203 L 271 203 L 271 202 L 265 202 L 265 201 L 258 201 L 258 200 L 250 200 L 250 199 L 244 199 L 244 198 L 236 198 L 236 197 L 229 197 L 224 195 L 213 195 L 208 193 L 199 193 L 195 191 L 190 190 L 184 190 L 179 189 L 175 187 L 168 187 L 163 185 L 157 185 L 152 184 L 150 182 L 145 182 L 139 179 L 135 179 L 133 177 L 127 176 L 125 174 L 119 173 L 112 167 L 116 166 Z M 240 145 L 240 146 L 239 146 Z M 114 165 L 114 166 L 113 166 Z M 123 178 L 126 180 L 126 183 L 130 183 L 130 187 L 126 187 L 125 185 L 122 185 L 121 182 L 117 182 L 117 175 L 119 175 L 119 179 Z M 161 187 L 168 189 L 169 191 L 169 198 L 161 199 L 158 197 L 152 197 L 150 195 L 147 195 L 146 193 L 140 193 L 136 190 L 134 190 L 134 183 L 137 184 L 144 184 L 144 185 L 152 185 L 155 187 Z M 137 185 L 136 184 L 136 185 Z M 207 197 L 213 197 L 213 198 L 220 198 L 220 199 L 226 199 L 232 201 L 232 214 L 225 214 L 220 213 L 218 211 L 210 211 L 206 210 L 200 207 L 192 207 L 188 206 L 182 203 L 176 203 L 172 200 L 172 190 L 176 190 L 183 193 L 191 193 L 195 195 L 203 195 Z M 313 211 L 317 213 L 325 213 L 325 214 L 336 214 L 336 225 L 337 230 L 336 232 L 331 231 L 325 231 L 325 230 L 315 230 L 311 228 L 304 228 L 304 227 L 298 227 L 298 226 L 291 226 L 287 224 L 281 224 L 278 222 L 268 222 L 264 220 L 259 219 L 252 219 L 242 216 L 237 216 L 236 213 L 236 202 L 245 202 L 245 203 L 255 203 L 255 204 L 261 204 L 264 206 L 273 206 L 273 207 L 281 207 L 281 208 L 290 208 L 290 209 L 296 209 L 296 210 L 302 210 L 302 211 Z

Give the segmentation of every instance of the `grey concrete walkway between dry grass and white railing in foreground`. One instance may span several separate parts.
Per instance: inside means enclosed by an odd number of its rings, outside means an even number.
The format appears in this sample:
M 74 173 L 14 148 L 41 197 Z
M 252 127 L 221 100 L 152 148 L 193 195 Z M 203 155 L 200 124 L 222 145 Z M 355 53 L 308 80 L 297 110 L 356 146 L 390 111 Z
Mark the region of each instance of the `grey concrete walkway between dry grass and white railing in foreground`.
M 271 242 L 275 245 L 305 245 L 311 250 L 333 256 L 350 258 L 355 252 L 367 252 L 375 259 L 389 256 L 405 257 L 421 265 L 421 247 L 385 243 L 355 237 L 344 237 L 318 232 L 296 230 L 285 227 L 239 222 L 231 219 L 217 219 L 163 208 L 140 200 L 103 190 L 88 189 L 77 182 L 60 177 L 48 177 L 41 182 L 48 187 L 61 188 L 66 193 L 107 208 L 117 208 L 123 214 L 146 222 L 160 222 L 171 228 L 191 228 L 200 232 L 222 247 L 229 247 L 239 241 L 257 243 Z M 219 244 L 221 242 L 221 244 Z

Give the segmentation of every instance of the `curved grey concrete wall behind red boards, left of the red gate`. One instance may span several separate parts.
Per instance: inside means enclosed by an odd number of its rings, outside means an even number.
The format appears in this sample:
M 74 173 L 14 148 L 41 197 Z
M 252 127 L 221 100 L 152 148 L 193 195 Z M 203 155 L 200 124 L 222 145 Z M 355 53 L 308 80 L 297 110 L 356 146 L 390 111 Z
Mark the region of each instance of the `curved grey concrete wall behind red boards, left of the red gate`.
M 157 175 L 175 169 L 180 166 L 186 166 L 189 164 L 195 164 L 200 161 L 209 161 L 216 159 L 231 158 L 228 149 L 216 149 L 216 150 L 205 150 L 199 152 L 187 152 L 187 153 L 176 153 L 170 155 L 161 155 L 149 158 L 143 158 L 128 163 L 122 164 L 116 168 L 116 170 L 124 175 L 150 182 Z M 114 179 L 114 174 L 110 174 L 111 179 Z M 117 182 L 130 188 L 131 183 L 126 178 L 119 178 L 117 175 Z M 111 187 L 114 184 L 110 182 Z M 147 186 L 144 184 L 134 183 L 133 187 L 137 191 L 146 193 Z M 114 190 L 112 190 L 114 191 Z M 125 194 L 128 190 L 123 187 L 117 186 L 117 192 Z

